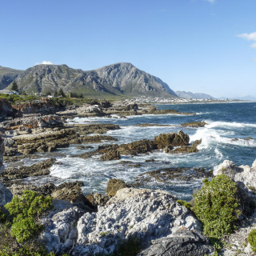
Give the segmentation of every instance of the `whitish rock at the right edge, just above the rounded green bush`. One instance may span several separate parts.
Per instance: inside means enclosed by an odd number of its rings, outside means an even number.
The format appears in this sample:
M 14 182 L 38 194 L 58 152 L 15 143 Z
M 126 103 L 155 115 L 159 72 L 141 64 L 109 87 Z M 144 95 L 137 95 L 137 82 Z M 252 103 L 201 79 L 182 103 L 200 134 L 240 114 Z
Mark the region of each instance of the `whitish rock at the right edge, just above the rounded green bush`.
M 246 186 L 248 189 L 256 188 L 256 168 L 255 161 L 250 166 L 235 166 L 234 162 L 230 160 L 225 160 L 220 164 L 216 170 L 214 170 L 214 175 L 226 174 L 234 182 L 238 182 L 238 185 Z

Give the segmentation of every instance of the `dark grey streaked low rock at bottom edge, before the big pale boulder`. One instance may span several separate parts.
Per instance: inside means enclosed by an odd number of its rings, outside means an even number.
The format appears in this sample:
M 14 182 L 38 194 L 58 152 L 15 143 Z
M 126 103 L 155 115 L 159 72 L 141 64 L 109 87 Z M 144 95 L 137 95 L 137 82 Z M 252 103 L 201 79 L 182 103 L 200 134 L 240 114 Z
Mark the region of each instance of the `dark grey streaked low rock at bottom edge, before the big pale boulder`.
M 158 238 L 150 242 L 138 256 L 203 256 L 214 251 L 205 236 L 193 230 L 182 228 L 171 237 Z

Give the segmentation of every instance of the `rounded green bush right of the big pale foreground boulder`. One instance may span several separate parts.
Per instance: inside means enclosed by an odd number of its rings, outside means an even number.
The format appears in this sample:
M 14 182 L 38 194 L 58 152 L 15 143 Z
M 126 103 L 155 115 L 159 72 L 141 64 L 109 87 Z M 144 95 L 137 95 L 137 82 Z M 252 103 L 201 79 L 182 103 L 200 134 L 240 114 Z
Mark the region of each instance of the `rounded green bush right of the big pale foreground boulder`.
M 194 194 L 194 214 L 203 224 L 204 234 L 210 238 L 222 238 L 230 234 L 238 219 L 237 186 L 226 175 L 218 175 Z

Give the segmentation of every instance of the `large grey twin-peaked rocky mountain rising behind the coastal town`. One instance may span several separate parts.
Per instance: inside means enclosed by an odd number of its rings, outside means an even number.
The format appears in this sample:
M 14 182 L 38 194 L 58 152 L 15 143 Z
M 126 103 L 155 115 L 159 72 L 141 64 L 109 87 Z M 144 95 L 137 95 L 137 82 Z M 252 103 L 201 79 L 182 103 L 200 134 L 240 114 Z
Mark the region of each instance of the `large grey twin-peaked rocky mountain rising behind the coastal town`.
M 27 93 L 77 92 L 94 96 L 130 95 L 177 97 L 170 87 L 130 63 L 117 63 L 97 70 L 75 70 L 66 65 L 37 65 L 15 79 Z M 10 88 L 10 86 L 8 87 Z

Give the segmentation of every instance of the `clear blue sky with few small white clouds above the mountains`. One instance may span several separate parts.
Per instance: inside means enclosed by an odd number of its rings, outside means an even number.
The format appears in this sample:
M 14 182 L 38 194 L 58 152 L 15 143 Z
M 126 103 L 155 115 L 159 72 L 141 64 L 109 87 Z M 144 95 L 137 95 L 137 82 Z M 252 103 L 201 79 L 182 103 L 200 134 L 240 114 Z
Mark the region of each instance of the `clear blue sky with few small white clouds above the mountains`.
M 176 90 L 256 96 L 255 0 L 0 0 L 0 66 L 130 62 Z

